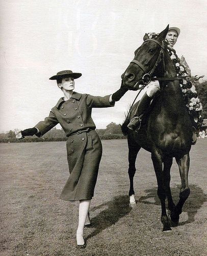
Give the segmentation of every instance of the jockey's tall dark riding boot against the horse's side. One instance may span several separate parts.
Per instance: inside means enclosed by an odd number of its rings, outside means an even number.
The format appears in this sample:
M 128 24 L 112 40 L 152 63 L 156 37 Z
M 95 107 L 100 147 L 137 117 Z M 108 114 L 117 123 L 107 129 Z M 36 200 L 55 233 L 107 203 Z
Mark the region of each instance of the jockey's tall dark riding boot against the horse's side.
M 128 129 L 133 131 L 139 130 L 142 117 L 146 112 L 146 110 L 148 109 L 150 101 L 151 101 L 151 98 L 145 92 L 137 106 L 135 117 L 132 118 L 130 123 L 127 125 Z

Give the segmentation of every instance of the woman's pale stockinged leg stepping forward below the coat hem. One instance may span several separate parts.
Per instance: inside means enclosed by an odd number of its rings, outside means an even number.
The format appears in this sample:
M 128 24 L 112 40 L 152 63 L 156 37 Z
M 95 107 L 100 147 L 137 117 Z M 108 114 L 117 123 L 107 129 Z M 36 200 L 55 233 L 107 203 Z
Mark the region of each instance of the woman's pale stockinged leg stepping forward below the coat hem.
M 79 204 L 79 225 L 76 231 L 77 245 L 84 244 L 84 226 L 88 216 L 91 200 L 81 200 Z

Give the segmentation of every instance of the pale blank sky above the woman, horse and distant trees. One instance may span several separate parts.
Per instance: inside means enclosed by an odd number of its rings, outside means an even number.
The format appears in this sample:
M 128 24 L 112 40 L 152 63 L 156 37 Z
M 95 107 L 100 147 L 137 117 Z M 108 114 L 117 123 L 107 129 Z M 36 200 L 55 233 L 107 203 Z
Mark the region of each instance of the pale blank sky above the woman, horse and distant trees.
M 63 96 L 48 79 L 58 71 L 83 74 L 76 92 L 117 91 L 144 34 L 168 24 L 181 30 L 178 56 L 185 56 L 192 75 L 206 80 L 206 13 L 206 0 L 2 0 L 0 132 L 34 127 L 48 116 Z M 97 129 L 122 123 L 137 93 L 128 91 L 113 108 L 94 109 Z

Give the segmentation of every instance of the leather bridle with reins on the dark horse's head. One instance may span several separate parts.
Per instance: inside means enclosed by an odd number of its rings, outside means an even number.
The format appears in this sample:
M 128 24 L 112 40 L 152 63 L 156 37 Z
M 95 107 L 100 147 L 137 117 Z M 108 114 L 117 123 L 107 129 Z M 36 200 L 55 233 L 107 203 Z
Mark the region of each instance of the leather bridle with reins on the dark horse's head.
M 154 64 L 153 68 L 152 68 L 149 72 L 147 72 L 146 68 L 144 67 L 144 65 L 143 65 L 140 61 L 138 61 L 138 60 L 136 60 L 136 59 L 133 59 L 133 60 L 131 61 L 131 63 L 132 63 L 132 62 L 135 63 L 136 65 L 138 65 L 138 66 L 144 71 L 145 74 L 144 74 L 143 77 L 142 77 L 142 83 L 143 83 L 144 85 L 148 84 L 150 81 L 156 81 L 156 80 L 158 80 L 158 81 L 172 81 L 172 80 L 180 80 L 180 79 L 183 79 L 183 78 L 186 77 L 186 76 L 177 76 L 177 77 L 152 77 L 152 75 L 153 75 L 153 73 L 154 73 L 154 70 L 156 70 L 158 64 L 160 63 L 160 61 L 161 61 L 161 59 L 162 59 L 162 57 L 163 57 L 163 50 L 165 49 L 165 45 L 164 45 L 164 40 L 162 40 L 162 44 L 161 44 L 159 41 L 157 41 L 156 39 L 152 39 L 152 38 L 145 40 L 145 41 L 143 42 L 143 44 L 144 44 L 145 42 L 147 42 L 147 41 L 156 42 L 156 44 L 158 44 L 158 45 L 160 46 L 160 48 L 161 48 L 161 49 L 160 49 L 159 56 L 158 56 L 158 58 L 157 58 L 156 63 Z M 138 83 L 138 82 L 137 82 L 137 83 Z

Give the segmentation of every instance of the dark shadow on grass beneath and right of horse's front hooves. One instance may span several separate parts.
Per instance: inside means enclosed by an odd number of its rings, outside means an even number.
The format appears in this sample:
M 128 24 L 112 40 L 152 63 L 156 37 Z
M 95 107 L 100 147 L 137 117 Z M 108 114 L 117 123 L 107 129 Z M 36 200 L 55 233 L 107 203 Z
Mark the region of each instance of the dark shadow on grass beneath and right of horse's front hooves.
M 190 185 L 189 187 L 191 189 L 191 194 L 183 207 L 183 212 L 184 211 L 187 212 L 188 219 L 186 221 L 180 222 L 179 226 L 185 225 L 186 223 L 194 222 L 197 211 L 201 208 L 204 202 L 207 202 L 207 196 L 203 193 L 203 190 L 200 187 L 196 185 Z M 147 193 L 147 195 L 144 197 L 140 197 L 138 202 L 145 203 L 145 204 L 161 205 L 157 195 L 157 187 L 147 189 L 145 190 L 145 192 Z M 176 204 L 179 200 L 179 187 L 171 188 L 171 193 L 172 193 L 173 201 Z M 150 198 L 153 198 L 154 202 L 147 201 Z M 167 206 L 167 203 L 166 203 L 166 206 Z

